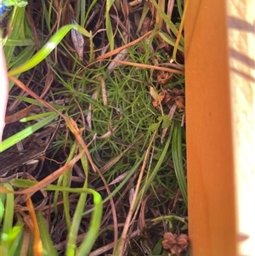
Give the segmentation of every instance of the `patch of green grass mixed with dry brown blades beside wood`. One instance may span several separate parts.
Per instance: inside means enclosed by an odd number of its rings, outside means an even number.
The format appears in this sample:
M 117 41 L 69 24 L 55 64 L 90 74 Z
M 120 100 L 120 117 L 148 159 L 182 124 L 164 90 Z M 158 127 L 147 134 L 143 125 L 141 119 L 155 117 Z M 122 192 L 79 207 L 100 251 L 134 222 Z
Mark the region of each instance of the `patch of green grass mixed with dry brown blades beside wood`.
M 3 21 L 1 157 L 19 145 L 30 163 L 0 173 L 6 255 L 167 255 L 164 233 L 187 233 L 183 1 L 100 4 L 33 1 Z

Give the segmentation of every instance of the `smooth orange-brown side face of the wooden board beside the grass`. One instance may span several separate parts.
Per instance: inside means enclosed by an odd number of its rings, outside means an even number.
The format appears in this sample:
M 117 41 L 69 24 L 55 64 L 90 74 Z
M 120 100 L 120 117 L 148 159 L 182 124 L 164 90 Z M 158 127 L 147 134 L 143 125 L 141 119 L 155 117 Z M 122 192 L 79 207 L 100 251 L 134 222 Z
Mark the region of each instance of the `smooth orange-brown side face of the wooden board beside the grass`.
M 191 256 L 235 256 L 234 158 L 225 1 L 191 1 L 185 21 Z

